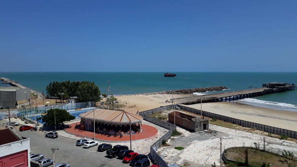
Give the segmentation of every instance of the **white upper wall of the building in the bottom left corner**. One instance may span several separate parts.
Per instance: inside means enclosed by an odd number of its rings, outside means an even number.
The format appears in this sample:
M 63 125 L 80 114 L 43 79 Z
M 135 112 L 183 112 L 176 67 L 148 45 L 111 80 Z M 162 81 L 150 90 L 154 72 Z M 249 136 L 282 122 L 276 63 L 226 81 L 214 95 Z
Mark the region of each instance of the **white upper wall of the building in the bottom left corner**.
M 6 155 L 14 154 L 16 152 L 27 150 L 28 152 L 28 166 L 30 167 L 30 139 L 24 139 L 20 141 L 15 141 L 8 144 L 3 144 L 0 146 L 0 157 Z

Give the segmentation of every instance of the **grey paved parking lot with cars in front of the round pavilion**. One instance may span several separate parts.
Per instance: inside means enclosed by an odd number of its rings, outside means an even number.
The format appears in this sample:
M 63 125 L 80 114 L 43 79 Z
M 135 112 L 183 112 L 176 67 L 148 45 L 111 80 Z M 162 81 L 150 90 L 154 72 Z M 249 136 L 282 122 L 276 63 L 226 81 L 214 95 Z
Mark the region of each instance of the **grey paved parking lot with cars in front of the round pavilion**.
M 1 121 L 1 124 L 4 123 Z M 18 130 L 19 126 L 15 129 Z M 118 158 L 111 158 L 106 151 L 97 152 L 98 146 L 83 148 L 76 146 L 76 140 L 59 136 L 58 138 L 46 138 L 41 131 L 18 131 L 24 137 L 30 138 L 31 154 L 43 154 L 45 158 L 53 158 L 52 148 L 55 151 L 55 163 L 69 163 L 73 167 L 128 167 L 129 164 L 122 163 Z M 102 142 L 99 142 L 101 144 Z M 130 143 L 126 145 L 129 146 Z M 137 152 L 136 150 L 134 150 Z

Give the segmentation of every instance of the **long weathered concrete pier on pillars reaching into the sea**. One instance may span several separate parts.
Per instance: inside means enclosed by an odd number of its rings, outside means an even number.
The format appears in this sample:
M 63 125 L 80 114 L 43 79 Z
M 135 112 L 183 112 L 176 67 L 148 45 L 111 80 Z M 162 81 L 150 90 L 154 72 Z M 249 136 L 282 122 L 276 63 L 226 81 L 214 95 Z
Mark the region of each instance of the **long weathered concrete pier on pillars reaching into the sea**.
M 196 104 L 196 103 L 208 103 L 208 102 L 222 102 L 223 100 L 240 100 L 244 98 L 252 98 L 263 96 L 266 94 L 280 93 L 289 90 L 296 90 L 295 84 L 289 83 L 264 83 L 262 88 L 246 89 L 233 92 L 222 92 L 213 94 L 195 95 L 190 97 L 173 98 L 170 101 L 174 101 L 176 104 Z

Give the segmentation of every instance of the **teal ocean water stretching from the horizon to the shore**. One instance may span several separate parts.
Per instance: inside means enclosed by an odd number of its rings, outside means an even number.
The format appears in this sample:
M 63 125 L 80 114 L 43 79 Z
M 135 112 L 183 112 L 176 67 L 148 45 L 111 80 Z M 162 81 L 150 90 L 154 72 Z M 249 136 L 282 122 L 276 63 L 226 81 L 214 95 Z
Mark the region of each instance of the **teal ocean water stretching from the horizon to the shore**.
M 235 91 L 262 87 L 267 82 L 297 84 L 297 72 L 173 72 L 176 77 L 164 77 L 164 72 L 0 72 L 0 77 L 18 81 L 39 92 L 52 81 L 94 81 L 106 93 L 107 81 L 114 95 L 157 92 L 208 86 L 226 86 Z M 182 78 L 187 77 L 187 78 Z M 3 86 L 5 84 L 1 84 Z M 216 93 L 216 92 L 206 92 Z M 205 94 L 205 93 L 203 93 Z M 269 94 L 238 102 L 274 109 L 297 111 L 297 90 Z

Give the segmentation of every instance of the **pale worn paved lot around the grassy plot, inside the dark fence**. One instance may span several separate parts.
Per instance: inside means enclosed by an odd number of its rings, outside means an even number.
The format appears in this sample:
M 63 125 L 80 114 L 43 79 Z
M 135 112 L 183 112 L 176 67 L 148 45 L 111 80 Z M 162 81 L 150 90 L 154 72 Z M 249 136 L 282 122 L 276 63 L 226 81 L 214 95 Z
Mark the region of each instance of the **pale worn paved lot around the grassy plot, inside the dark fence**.
M 211 166 L 211 163 L 216 162 L 219 165 L 220 160 L 220 144 L 219 138 L 222 137 L 222 150 L 230 147 L 255 147 L 254 142 L 260 144 L 260 149 L 263 149 L 263 137 L 266 139 L 266 150 L 278 153 L 281 155 L 284 149 L 293 152 L 297 155 L 297 143 L 293 141 L 280 140 L 269 136 L 263 136 L 254 133 L 243 132 L 240 130 L 229 129 L 217 125 L 209 125 L 210 130 L 216 133 L 194 132 L 191 133 L 180 127 L 177 130 L 182 134 L 181 137 L 172 137 L 168 140 L 171 146 L 164 147 L 160 155 L 166 155 L 164 160 L 184 164 L 187 161 L 190 166 Z M 184 150 L 176 150 L 175 146 L 182 146 Z M 166 150 L 166 151 L 165 151 Z M 166 154 L 165 154 L 166 153 Z M 208 165 L 207 165 L 208 164 Z M 224 165 L 223 165 L 224 166 Z M 274 166 L 272 164 L 272 166 Z

